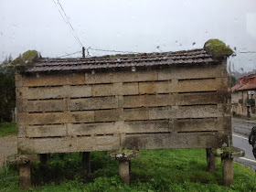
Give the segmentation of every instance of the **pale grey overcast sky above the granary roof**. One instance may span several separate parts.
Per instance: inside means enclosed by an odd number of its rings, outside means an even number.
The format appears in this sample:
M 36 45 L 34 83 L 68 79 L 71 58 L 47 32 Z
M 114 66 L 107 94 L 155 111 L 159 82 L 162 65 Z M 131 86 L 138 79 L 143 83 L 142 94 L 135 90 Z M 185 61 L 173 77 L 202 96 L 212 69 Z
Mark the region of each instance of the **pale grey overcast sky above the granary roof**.
M 81 50 L 59 14 L 62 10 L 58 0 L 0 2 L 0 60 L 10 54 L 16 58 L 28 49 L 36 49 L 43 57 Z M 230 48 L 237 48 L 237 56 L 229 59 L 235 69 L 256 69 L 256 53 L 240 53 L 256 52 L 255 0 L 59 0 L 59 3 L 85 48 L 176 51 L 203 48 L 209 38 L 219 38 Z M 93 50 L 90 53 L 113 54 Z

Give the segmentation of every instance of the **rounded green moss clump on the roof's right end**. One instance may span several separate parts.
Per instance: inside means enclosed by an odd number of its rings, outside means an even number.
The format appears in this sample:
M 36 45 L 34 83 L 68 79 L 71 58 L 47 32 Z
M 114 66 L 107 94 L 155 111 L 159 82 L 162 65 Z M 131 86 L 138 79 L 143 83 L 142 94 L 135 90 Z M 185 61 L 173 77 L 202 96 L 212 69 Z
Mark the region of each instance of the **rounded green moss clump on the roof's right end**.
M 204 49 L 216 59 L 227 58 L 233 53 L 231 48 L 217 38 L 209 39 L 205 43 Z

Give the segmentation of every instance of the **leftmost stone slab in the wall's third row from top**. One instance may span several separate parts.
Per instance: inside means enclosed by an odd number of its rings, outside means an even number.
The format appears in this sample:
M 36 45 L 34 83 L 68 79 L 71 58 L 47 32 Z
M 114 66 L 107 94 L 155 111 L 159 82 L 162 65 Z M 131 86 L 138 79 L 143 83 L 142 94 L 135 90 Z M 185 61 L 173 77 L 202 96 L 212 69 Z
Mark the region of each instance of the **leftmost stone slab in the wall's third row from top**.
M 64 100 L 17 100 L 16 107 L 18 112 L 60 112 L 67 110 L 66 103 Z

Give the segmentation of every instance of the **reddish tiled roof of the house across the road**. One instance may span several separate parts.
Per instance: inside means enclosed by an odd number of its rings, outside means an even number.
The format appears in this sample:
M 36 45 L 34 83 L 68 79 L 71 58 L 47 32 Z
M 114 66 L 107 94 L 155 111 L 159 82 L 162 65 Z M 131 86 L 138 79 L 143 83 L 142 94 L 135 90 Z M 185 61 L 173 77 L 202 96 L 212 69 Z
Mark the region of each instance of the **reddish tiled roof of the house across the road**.
M 256 74 L 244 76 L 232 87 L 231 91 L 256 90 Z

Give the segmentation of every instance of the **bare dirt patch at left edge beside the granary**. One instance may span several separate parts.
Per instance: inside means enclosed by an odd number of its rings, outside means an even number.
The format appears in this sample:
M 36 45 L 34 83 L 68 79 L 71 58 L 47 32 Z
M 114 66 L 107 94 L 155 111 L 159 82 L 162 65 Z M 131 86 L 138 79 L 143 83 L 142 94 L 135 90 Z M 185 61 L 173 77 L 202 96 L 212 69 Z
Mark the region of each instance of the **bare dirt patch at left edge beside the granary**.
M 16 135 L 0 137 L 0 168 L 5 165 L 6 156 L 17 154 Z

